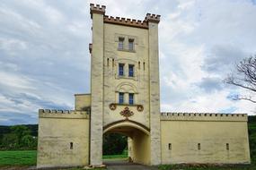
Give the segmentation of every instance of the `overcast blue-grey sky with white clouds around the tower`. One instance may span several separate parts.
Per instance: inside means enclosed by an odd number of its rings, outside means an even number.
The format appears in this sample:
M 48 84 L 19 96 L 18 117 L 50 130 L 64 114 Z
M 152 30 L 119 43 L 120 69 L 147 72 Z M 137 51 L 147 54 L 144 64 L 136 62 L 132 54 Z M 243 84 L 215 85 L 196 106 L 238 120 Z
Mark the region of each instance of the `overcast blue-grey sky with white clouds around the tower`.
M 38 123 L 39 108 L 73 109 L 90 92 L 89 4 L 106 14 L 159 24 L 161 110 L 248 113 L 243 89 L 223 83 L 234 64 L 256 54 L 252 0 L 1 0 L 0 125 Z

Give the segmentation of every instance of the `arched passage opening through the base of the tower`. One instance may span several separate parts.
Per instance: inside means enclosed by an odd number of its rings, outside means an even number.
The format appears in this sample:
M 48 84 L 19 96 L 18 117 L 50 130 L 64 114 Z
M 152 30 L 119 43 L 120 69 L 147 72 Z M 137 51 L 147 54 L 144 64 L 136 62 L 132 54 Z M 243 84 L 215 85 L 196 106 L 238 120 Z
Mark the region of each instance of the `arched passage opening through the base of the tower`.
M 119 123 L 111 125 L 104 129 L 103 139 L 105 136 L 108 137 L 119 136 L 120 139 L 127 140 L 126 147 L 127 157 L 116 157 L 122 158 L 122 162 L 136 163 L 142 165 L 150 165 L 150 136 L 149 132 L 144 127 L 137 127 L 137 124 Z M 116 134 L 116 135 L 111 135 Z M 109 139 L 110 140 L 110 139 Z M 112 139 L 118 142 L 119 140 Z M 117 145 L 121 145 L 117 143 Z M 103 148 L 104 149 L 104 148 Z M 104 152 L 104 150 L 103 150 Z M 112 157 L 115 158 L 115 157 Z M 113 160 L 113 159 L 112 159 Z M 110 159 L 103 159 L 103 162 L 108 165 Z M 112 161 L 110 161 L 112 162 Z

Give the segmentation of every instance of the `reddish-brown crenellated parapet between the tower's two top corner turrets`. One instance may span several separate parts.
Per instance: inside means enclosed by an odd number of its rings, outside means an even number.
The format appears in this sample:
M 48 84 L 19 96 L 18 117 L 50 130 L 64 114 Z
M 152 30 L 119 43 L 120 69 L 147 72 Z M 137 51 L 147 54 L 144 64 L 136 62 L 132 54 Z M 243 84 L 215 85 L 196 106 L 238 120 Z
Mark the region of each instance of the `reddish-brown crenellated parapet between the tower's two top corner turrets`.
M 112 17 L 112 16 L 105 15 L 104 22 L 114 23 L 119 25 L 127 25 L 130 27 L 138 27 L 142 29 L 148 29 L 148 23 L 146 21 L 140 21 L 140 20 L 129 19 L 129 18 L 120 18 L 120 17 Z

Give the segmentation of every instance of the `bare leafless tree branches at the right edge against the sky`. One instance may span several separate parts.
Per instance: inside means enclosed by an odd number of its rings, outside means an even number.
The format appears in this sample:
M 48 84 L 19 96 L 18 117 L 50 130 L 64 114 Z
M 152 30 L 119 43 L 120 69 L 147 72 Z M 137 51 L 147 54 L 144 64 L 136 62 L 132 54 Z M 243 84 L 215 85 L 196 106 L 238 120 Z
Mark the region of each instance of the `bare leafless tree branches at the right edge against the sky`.
M 225 82 L 243 89 L 247 89 L 252 93 L 256 93 L 256 55 L 244 58 L 239 64 L 236 64 L 235 68 L 235 74 L 231 73 L 228 75 Z M 252 97 L 253 95 L 234 95 L 233 99 L 243 99 L 256 103 L 256 100 Z

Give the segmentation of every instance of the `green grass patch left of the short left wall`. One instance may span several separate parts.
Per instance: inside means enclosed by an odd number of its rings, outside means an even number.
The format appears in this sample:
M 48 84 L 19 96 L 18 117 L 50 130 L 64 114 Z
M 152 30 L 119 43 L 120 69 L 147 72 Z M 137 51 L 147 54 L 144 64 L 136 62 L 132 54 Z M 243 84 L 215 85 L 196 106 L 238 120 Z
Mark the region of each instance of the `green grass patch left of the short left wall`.
M 35 166 L 36 150 L 0 151 L 0 166 Z

